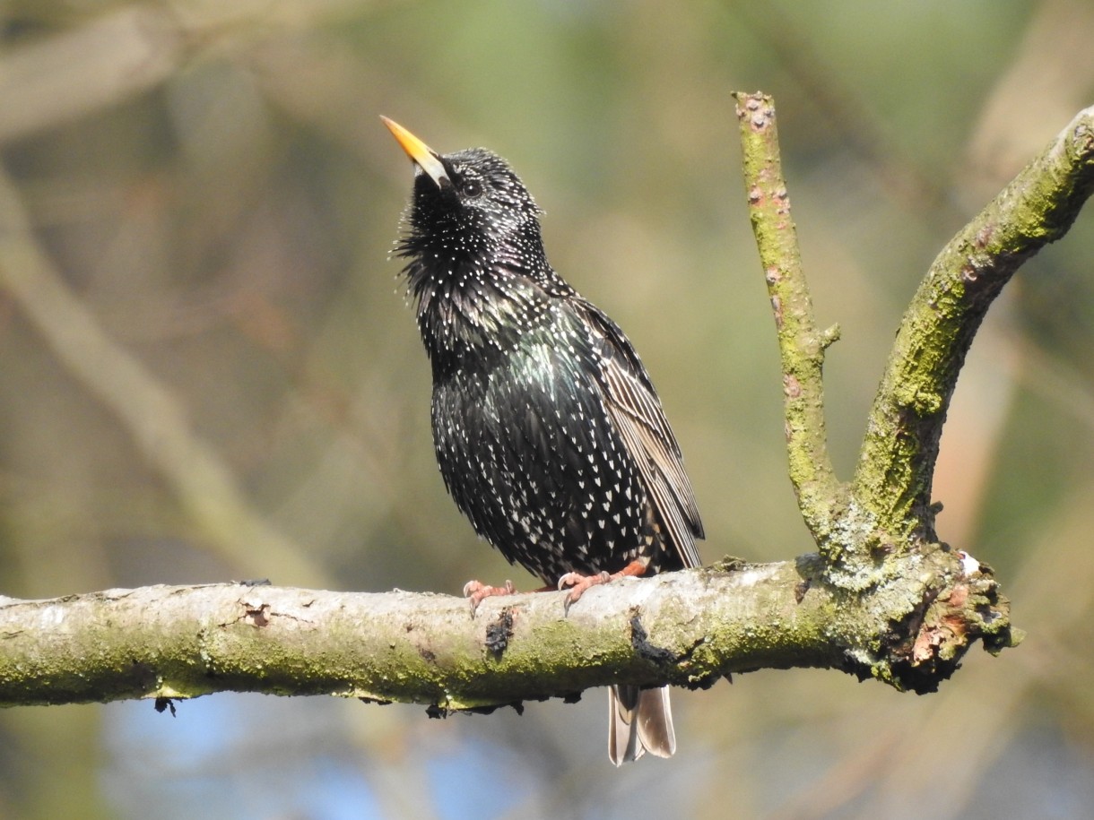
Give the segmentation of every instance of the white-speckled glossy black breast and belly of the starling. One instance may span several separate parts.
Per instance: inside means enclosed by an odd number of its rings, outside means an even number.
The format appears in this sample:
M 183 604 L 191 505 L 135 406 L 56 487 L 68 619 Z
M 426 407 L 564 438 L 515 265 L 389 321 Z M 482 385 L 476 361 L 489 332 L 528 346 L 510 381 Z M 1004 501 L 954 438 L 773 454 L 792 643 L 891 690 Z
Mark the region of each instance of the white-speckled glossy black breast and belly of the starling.
M 644 490 L 598 366 L 580 328 L 563 326 L 434 379 L 449 492 L 480 536 L 546 583 L 618 570 L 650 543 Z

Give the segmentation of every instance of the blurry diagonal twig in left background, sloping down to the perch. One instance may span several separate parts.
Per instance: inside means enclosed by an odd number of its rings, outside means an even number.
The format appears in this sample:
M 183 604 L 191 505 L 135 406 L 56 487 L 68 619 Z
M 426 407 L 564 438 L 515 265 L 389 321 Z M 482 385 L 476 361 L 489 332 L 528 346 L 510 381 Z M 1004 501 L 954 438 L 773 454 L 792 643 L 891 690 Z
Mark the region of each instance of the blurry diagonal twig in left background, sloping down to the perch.
M 325 585 L 300 548 L 252 507 L 231 469 L 190 429 L 182 401 L 72 293 L 35 241 L 19 192 L 2 172 L 0 286 L 69 372 L 114 412 L 222 555 L 242 573 L 274 569 L 292 583 Z

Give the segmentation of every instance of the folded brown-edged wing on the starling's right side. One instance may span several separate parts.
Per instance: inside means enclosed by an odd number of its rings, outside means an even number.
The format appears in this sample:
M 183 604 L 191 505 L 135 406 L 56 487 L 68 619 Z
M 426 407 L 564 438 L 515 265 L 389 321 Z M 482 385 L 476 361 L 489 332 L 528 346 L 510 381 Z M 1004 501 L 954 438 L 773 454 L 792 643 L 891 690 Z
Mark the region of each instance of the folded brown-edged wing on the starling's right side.
M 684 566 L 699 566 L 695 539 L 703 537 L 702 522 L 679 445 L 653 383 L 619 326 L 594 305 L 585 302 L 583 306 L 590 327 L 606 342 L 601 350 L 601 380 L 612 421 L 638 462 L 647 492 Z

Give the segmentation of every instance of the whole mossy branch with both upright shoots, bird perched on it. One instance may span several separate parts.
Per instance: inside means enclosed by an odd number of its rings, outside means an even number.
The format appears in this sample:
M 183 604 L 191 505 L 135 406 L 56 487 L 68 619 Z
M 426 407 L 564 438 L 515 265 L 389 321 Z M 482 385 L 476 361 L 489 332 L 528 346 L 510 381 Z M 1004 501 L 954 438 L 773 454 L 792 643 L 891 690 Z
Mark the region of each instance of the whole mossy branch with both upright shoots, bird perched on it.
M 990 652 L 1015 645 L 991 571 L 936 542 L 931 473 L 985 312 L 1094 189 L 1094 109 L 939 256 L 897 336 L 854 481 L 843 485 L 823 414 L 824 351 L 837 331 L 818 332 L 813 319 L 771 101 L 737 101 L 782 355 L 791 478 L 819 554 L 621 581 L 587 591 L 568 617 L 551 594 L 488 599 L 474 619 L 466 601 L 446 596 L 246 585 L 0 600 L 0 704 L 231 689 L 482 710 L 607 683 L 696 688 L 795 666 L 927 692 L 977 640 Z

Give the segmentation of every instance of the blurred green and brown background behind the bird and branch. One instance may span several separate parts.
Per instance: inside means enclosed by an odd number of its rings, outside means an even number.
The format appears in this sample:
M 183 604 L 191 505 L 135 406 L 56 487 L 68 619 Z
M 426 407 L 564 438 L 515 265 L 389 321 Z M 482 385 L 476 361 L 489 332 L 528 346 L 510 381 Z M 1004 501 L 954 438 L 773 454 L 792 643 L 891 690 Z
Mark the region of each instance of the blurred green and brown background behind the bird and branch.
M 810 551 L 730 92 L 777 102 L 848 478 L 920 277 L 1092 102 L 1091 43 L 1085 0 L 0 4 L 0 591 L 534 583 L 437 472 L 379 114 L 522 175 L 657 384 L 703 559 Z M 962 375 L 939 531 L 1029 634 L 940 693 L 744 675 L 678 692 L 677 755 L 619 771 L 602 692 L 5 710 L 0 817 L 1089 817 L 1092 259 L 1087 206 Z

